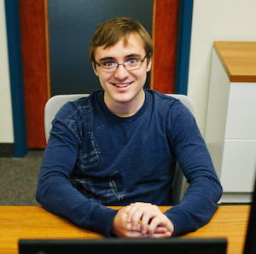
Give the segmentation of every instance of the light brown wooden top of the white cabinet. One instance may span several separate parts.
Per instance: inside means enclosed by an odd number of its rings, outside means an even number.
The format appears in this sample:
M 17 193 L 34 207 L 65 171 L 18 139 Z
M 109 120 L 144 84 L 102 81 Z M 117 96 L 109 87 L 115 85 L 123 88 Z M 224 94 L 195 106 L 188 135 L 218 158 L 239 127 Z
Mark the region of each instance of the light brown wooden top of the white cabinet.
M 214 42 L 231 82 L 256 82 L 256 42 Z

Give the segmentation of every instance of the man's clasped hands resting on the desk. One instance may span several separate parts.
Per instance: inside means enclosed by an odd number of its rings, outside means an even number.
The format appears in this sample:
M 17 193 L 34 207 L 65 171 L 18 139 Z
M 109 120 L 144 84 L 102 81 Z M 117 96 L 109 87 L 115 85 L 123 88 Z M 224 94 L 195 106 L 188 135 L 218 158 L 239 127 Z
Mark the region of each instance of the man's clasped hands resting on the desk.
M 112 229 L 118 237 L 166 238 L 172 235 L 174 227 L 156 205 L 134 203 L 119 210 Z

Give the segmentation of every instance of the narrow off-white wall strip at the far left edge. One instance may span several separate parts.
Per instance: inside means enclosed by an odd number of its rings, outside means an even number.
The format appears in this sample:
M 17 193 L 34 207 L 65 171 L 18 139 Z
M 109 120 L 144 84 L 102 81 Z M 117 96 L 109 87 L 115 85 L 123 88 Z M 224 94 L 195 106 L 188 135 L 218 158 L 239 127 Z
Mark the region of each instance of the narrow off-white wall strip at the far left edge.
M 0 143 L 14 143 L 4 0 L 0 0 Z

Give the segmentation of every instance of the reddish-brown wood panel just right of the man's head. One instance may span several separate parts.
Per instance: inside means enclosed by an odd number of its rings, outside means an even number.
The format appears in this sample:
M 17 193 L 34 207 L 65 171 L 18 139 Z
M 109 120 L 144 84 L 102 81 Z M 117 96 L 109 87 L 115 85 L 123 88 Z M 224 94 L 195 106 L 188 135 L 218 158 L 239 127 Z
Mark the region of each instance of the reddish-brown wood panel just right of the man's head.
M 175 91 L 179 0 L 155 0 L 154 82 L 161 93 Z

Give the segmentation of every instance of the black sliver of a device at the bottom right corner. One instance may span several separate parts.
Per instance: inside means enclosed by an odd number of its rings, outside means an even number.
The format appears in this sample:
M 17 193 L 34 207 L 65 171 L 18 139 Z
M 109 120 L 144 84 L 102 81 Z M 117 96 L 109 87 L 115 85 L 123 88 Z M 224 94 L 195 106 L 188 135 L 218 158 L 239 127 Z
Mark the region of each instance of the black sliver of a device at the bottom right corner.
M 256 179 L 253 192 L 253 203 L 247 226 L 247 237 L 244 245 L 244 254 L 256 253 Z

